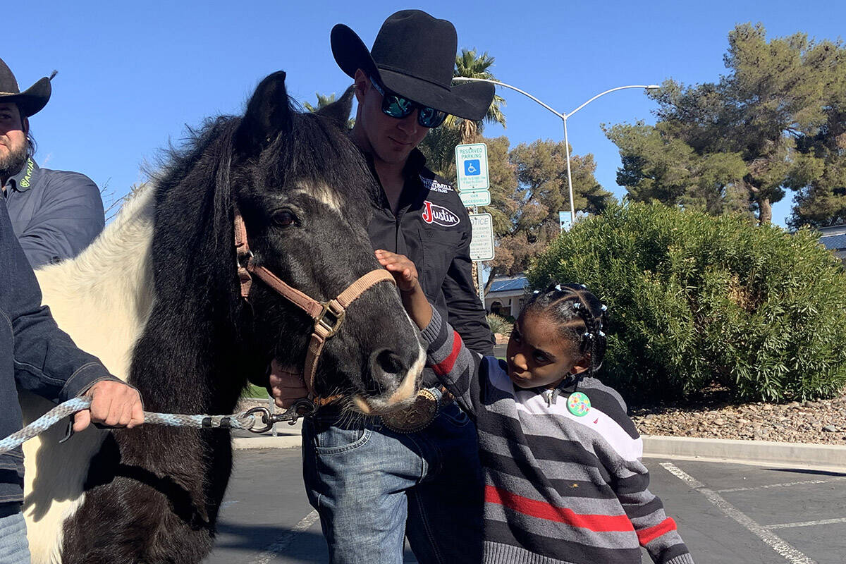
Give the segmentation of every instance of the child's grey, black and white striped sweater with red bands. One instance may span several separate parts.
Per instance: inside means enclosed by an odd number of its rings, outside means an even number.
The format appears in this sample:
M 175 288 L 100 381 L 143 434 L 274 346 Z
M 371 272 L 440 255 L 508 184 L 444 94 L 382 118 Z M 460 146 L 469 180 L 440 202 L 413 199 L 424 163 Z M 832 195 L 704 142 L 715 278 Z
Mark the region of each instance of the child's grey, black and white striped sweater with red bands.
M 662 501 L 647 489 L 643 442 L 613 389 L 579 384 L 591 400 L 569 413 L 515 388 L 506 364 L 464 347 L 437 310 L 422 331 L 429 364 L 475 419 L 485 470 L 485 557 L 491 564 L 693 564 Z

